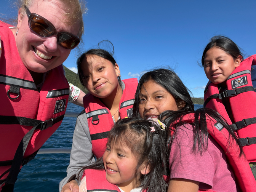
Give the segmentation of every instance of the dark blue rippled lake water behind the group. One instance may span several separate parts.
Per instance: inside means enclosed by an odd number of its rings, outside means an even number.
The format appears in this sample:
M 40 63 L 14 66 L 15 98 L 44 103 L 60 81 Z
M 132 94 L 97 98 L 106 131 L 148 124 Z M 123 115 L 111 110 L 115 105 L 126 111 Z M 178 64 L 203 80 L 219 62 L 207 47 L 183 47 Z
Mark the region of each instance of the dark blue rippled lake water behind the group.
M 195 109 L 203 105 L 195 104 Z M 81 112 L 83 107 L 69 103 L 67 112 Z M 58 130 L 43 148 L 70 148 L 75 128 L 75 117 L 64 117 Z M 14 192 L 58 192 L 59 182 L 66 177 L 70 154 L 37 154 L 19 173 Z

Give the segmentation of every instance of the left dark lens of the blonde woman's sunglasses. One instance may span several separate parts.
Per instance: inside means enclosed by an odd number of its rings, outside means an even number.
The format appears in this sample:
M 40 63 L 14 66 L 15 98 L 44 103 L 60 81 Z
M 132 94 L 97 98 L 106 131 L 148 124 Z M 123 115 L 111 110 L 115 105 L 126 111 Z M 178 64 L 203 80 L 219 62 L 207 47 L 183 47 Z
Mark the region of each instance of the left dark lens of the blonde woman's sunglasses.
M 30 22 L 31 29 L 41 36 L 49 36 L 54 32 L 53 27 L 51 27 L 46 21 L 41 18 L 33 17 Z

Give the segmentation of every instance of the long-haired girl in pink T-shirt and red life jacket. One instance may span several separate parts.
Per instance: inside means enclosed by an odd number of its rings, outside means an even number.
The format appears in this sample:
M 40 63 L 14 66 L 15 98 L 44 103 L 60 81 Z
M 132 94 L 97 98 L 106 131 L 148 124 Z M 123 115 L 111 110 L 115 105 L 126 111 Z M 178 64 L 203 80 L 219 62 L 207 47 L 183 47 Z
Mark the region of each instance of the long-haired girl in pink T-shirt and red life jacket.
M 156 69 L 142 75 L 133 115 L 159 118 L 170 128 L 168 192 L 253 189 L 253 183 L 235 181 L 233 171 L 250 170 L 237 168 L 236 163 L 245 164 L 246 159 L 232 129 L 211 109 L 195 111 L 189 90 L 173 71 Z

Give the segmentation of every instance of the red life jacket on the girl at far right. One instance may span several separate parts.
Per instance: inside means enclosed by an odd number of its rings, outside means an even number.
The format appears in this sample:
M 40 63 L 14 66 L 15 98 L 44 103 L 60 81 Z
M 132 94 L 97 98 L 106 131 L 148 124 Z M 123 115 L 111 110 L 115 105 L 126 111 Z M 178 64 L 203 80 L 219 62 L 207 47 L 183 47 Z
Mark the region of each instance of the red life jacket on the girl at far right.
M 251 65 L 256 55 L 243 60 L 227 78 L 227 90 L 219 93 L 218 85 L 209 82 L 205 88 L 204 107 L 214 109 L 237 131 L 249 162 L 256 162 L 256 93 L 251 82 Z M 235 123 L 232 124 L 221 99 L 229 98 Z

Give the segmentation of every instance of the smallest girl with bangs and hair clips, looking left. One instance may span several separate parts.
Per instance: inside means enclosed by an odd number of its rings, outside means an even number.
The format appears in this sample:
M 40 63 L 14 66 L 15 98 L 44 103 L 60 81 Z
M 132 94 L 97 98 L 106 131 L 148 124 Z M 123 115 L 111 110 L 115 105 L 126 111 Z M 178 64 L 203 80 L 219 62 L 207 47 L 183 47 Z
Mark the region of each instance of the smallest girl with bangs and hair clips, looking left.
M 79 192 L 166 192 L 168 132 L 158 121 L 119 120 L 109 131 L 103 157 L 83 168 Z

